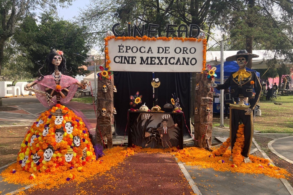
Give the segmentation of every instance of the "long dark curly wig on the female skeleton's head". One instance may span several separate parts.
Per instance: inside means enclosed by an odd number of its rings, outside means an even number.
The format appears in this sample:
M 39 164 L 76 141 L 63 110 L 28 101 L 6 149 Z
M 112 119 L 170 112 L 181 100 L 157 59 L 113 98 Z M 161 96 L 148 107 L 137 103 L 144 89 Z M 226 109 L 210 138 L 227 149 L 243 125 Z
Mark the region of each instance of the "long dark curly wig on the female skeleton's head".
M 64 75 L 67 75 L 67 74 L 70 72 L 70 70 L 67 70 L 67 68 L 66 68 L 66 59 L 65 59 L 65 57 L 64 57 L 63 55 L 59 55 L 59 54 L 57 53 L 56 49 L 52 49 L 52 50 L 50 51 L 50 54 L 47 56 L 47 58 L 46 58 L 46 60 L 45 60 L 45 63 L 44 63 L 44 64 L 42 65 L 42 67 L 38 70 L 38 73 L 39 73 L 39 75 L 40 75 L 40 78 L 38 78 L 39 81 L 42 80 L 42 79 L 44 78 L 44 75 L 51 75 L 51 74 L 54 72 L 54 70 L 55 70 L 55 67 L 54 67 L 54 66 L 55 66 L 55 65 L 52 64 L 52 60 L 53 60 L 54 56 L 60 56 L 60 57 L 62 58 L 62 61 L 61 61 L 60 65 L 58 66 L 59 71 L 60 71 L 62 74 L 64 74 Z M 46 72 L 44 75 L 42 75 L 42 73 L 41 73 L 40 70 L 41 70 L 45 65 L 46 65 L 46 67 L 47 67 L 47 72 Z

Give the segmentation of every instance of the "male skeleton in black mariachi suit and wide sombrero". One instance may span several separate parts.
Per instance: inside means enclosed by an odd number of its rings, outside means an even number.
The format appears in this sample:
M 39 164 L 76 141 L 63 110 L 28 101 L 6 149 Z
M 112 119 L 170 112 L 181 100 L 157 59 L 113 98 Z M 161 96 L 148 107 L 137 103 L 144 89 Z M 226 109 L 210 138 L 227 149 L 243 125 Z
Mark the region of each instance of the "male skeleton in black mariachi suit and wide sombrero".
M 244 163 L 251 163 L 249 159 L 249 151 L 253 136 L 253 120 L 252 111 L 258 102 L 261 85 L 254 71 L 246 71 L 246 64 L 248 59 L 257 58 L 258 55 L 249 54 L 246 50 L 238 51 L 236 55 L 226 58 L 226 61 L 236 60 L 239 65 L 239 70 L 230 74 L 229 78 L 224 84 L 212 84 L 216 89 L 228 89 L 231 87 L 231 97 L 240 99 L 239 104 L 230 104 L 230 138 L 231 149 L 233 149 L 236 142 L 236 133 L 241 120 L 244 124 L 244 147 L 241 155 L 244 156 Z M 255 95 L 253 95 L 253 88 Z M 251 105 L 246 106 L 243 103 L 243 98 L 251 99 Z M 232 160 L 232 156 L 230 157 Z

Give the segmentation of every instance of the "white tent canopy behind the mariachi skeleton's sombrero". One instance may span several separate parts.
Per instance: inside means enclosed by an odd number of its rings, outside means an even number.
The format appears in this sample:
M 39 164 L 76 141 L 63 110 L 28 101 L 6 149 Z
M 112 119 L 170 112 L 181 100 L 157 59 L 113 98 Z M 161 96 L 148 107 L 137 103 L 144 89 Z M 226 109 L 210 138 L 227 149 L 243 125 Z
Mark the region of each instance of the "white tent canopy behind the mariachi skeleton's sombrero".
M 253 54 L 259 55 L 258 58 L 252 58 L 252 68 L 253 69 L 265 69 L 268 68 L 266 65 L 266 61 L 273 59 L 275 53 L 271 50 L 253 50 Z M 229 56 L 234 56 L 237 54 L 237 51 L 224 51 L 224 62 L 226 61 L 226 58 Z M 221 61 L 221 52 L 220 51 L 207 51 L 206 61 L 207 64 L 210 65 L 216 65 L 215 59 L 217 57 L 217 64 Z M 277 57 L 278 62 L 282 62 L 285 60 L 285 56 L 279 56 Z M 292 63 L 285 62 L 287 66 L 291 66 Z M 278 68 L 278 64 L 275 64 L 275 67 Z

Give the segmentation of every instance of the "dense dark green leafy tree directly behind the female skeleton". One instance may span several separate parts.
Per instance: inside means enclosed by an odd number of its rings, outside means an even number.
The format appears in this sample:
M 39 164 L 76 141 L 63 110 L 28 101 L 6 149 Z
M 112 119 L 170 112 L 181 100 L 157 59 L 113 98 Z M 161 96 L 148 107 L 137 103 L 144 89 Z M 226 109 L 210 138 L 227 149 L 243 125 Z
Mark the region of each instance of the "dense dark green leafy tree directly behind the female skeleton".
M 34 64 L 31 68 L 34 76 L 38 76 L 38 69 L 44 64 L 51 49 L 64 52 L 67 69 L 72 68 L 71 76 L 85 75 L 89 71 L 81 66 L 88 63 L 84 63 L 83 57 L 73 53 L 87 56 L 91 44 L 88 44 L 90 35 L 85 33 L 86 29 L 85 26 L 53 17 L 52 13 L 43 13 L 39 24 L 36 23 L 35 18 L 25 17 L 13 38 L 26 49 L 26 53 Z M 46 67 L 41 70 L 42 73 L 45 71 Z

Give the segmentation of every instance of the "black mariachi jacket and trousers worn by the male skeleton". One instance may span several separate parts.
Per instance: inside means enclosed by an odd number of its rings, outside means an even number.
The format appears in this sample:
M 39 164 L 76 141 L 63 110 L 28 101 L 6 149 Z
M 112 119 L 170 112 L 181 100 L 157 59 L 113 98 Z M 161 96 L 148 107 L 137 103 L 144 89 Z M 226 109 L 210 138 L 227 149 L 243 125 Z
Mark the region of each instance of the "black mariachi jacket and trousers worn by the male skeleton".
M 233 74 L 235 72 L 231 73 L 226 82 L 224 84 L 218 84 L 216 89 L 228 89 L 229 87 L 231 87 L 231 97 L 238 98 L 239 95 L 243 95 L 244 97 L 253 98 L 254 88 L 255 96 L 253 99 L 250 100 L 251 105 L 249 106 L 249 108 L 253 109 L 258 102 L 261 92 L 261 85 L 254 71 L 247 72 L 251 73 L 251 75 L 247 78 L 244 78 L 240 82 L 238 81 L 239 75 L 233 78 Z M 250 84 L 251 81 L 253 81 L 254 84 Z M 236 134 L 239 126 L 239 121 L 241 119 L 244 125 L 244 147 L 241 154 L 244 157 L 248 157 L 253 136 L 253 113 L 251 113 L 250 115 L 245 115 L 245 109 L 247 109 L 247 107 L 230 106 L 230 138 L 232 150 L 236 142 Z

